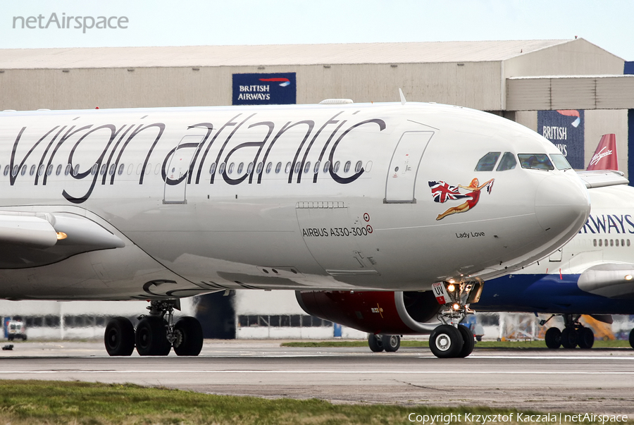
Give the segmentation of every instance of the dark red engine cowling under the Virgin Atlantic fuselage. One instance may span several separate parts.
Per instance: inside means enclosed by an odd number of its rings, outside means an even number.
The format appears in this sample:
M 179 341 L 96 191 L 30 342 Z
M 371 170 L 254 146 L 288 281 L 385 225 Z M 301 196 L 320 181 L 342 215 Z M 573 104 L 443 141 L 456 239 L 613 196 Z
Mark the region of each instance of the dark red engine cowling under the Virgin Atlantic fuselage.
M 437 323 L 425 322 L 433 319 L 441 307 L 432 291 L 298 290 L 295 296 L 300 307 L 311 316 L 359 331 L 386 335 L 430 333 Z

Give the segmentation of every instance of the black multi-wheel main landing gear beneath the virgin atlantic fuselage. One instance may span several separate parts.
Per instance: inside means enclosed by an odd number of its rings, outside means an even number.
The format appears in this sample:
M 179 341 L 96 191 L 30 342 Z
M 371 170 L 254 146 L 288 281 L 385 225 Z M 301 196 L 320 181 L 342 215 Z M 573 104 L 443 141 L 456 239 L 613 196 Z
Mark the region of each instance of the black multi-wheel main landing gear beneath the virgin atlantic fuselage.
M 185 316 L 174 323 L 174 309 L 180 310 L 179 300 L 152 301 L 149 314 L 139 316 L 137 329 L 125 317 L 108 321 L 104 343 L 111 356 L 129 356 L 137 347 L 142 356 L 166 356 L 172 347 L 179 356 L 197 356 L 202 349 L 200 322 Z

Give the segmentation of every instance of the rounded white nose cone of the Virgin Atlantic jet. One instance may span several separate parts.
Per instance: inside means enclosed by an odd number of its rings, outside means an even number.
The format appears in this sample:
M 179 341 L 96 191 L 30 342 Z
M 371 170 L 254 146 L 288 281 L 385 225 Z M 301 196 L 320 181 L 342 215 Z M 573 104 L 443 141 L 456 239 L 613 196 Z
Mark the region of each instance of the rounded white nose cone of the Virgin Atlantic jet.
M 549 175 L 537 187 L 535 216 L 549 233 L 576 232 L 590 214 L 588 190 L 571 175 Z

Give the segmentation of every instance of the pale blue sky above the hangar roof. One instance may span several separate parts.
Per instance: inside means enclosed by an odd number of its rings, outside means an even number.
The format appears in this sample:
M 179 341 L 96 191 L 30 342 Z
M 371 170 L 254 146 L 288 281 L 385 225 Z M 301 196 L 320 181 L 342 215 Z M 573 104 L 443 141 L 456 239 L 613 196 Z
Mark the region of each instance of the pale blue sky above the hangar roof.
M 578 36 L 634 61 L 633 20 L 630 0 L 0 0 L 0 49 Z

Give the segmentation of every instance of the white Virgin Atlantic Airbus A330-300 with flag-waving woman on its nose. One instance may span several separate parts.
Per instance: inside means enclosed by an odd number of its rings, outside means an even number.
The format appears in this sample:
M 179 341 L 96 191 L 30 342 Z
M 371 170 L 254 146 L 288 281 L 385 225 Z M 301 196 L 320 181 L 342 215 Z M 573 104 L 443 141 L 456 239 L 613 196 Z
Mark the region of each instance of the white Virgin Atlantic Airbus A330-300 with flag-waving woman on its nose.
M 435 285 L 464 316 L 483 281 L 557 250 L 590 212 L 545 138 L 404 99 L 4 111 L 0 173 L 0 297 L 150 300 L 136 328 L 108 322 L 110 355 L 198 355 L 180 298 L 234 288 L 399 290 L 425 307 Z M 441 350 L 464 345 L 440 328 Z

